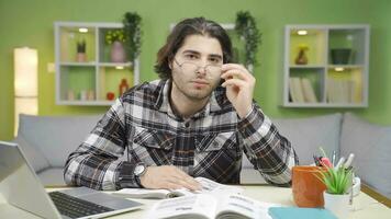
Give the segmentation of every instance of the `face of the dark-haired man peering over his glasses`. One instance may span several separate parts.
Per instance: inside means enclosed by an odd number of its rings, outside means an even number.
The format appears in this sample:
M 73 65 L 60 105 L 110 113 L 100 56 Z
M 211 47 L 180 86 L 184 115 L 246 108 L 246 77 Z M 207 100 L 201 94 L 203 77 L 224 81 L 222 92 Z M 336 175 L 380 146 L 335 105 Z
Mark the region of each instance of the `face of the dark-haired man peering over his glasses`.
M 194 101 L 209 97 L 220 83 L 222 64 L 223 50 L 216 38 L 187 36 L 170 64 L 172 93 Z

